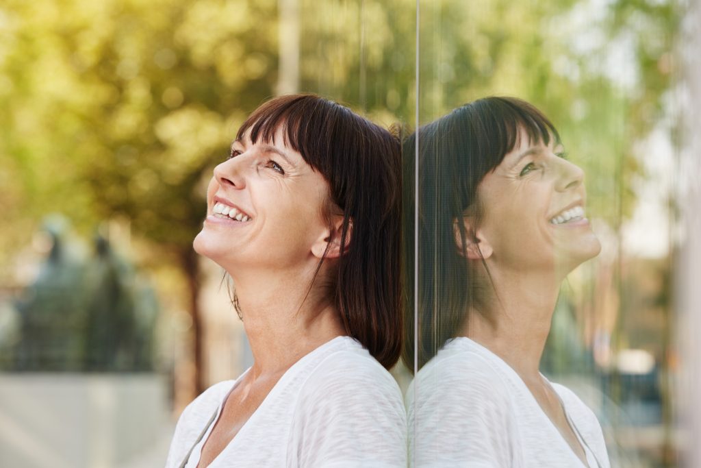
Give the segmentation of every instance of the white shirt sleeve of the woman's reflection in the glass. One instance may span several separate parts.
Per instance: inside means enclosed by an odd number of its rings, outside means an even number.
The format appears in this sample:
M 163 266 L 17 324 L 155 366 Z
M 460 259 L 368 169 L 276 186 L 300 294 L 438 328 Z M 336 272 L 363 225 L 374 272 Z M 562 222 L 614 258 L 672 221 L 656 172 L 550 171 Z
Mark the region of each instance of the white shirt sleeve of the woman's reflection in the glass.
M 407 394 L 409 457 L 421 468 L 517 466 L 511 404 L 479 356 L 422 369 Z

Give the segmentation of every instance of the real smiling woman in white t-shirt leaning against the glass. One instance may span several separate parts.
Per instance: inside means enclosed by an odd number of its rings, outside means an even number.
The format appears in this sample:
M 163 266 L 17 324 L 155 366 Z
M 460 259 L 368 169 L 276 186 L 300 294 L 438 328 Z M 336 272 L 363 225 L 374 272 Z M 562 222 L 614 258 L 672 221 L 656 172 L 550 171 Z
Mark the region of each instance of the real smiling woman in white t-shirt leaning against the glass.
M 179 419 L 168 467 L 406 464 L 400 144 L 313 95 L 261 105 L 207 189 L 194 246 L 236 286 L 254 364 Z

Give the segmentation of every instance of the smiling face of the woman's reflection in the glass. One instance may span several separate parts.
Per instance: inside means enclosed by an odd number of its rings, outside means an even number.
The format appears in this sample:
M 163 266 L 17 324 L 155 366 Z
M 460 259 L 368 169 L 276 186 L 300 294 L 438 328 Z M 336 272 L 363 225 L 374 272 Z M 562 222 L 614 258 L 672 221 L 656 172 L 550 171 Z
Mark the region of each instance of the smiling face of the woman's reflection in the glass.
M 515 148 L 477 188 L 484 208 L 478 233 L 494 262 L 566 275 L 601 245 L 586 218 L 584 173 L 552 140 L 546 146 L 519 132 Z

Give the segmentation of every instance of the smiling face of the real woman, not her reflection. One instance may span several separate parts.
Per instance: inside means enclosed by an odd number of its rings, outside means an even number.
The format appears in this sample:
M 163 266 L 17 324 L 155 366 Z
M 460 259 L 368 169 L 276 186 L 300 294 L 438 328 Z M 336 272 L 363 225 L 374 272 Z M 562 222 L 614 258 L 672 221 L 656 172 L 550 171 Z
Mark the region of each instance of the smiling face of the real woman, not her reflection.
M 236 278 L 245 269 L 299 269 L 318 263 L 311 251 L 327 229 L 329 185 L 278 128 L 272 143 L 233 142 L 207 189 L 207 218 L 195 250 Z

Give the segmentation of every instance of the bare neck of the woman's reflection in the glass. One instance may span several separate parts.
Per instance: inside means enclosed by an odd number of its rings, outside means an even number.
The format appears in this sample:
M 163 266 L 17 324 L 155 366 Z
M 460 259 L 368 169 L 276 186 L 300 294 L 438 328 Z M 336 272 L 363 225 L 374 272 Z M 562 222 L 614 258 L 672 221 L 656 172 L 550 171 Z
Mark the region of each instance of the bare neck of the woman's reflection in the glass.
M 463 335 L 508 363 L 525 382 L 540 382 L 540 357 L 550 333 L 559 281 L 552 273 L 490 267 L 494 289 L 484 310 L 470 310 Z

